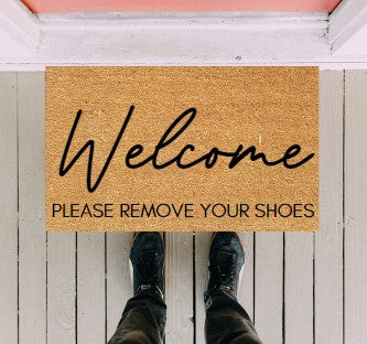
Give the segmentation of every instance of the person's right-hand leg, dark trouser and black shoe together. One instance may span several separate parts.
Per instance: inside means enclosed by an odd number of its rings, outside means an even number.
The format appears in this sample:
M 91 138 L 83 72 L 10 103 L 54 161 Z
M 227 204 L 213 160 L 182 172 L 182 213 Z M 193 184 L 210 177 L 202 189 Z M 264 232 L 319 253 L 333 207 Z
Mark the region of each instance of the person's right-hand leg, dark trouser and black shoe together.
M 237 302 L 245 254 L 236 233 L 215 234 L 209 252 L 209 282 L 204 294 L 207 344 L 261 344 L 253 324 Z

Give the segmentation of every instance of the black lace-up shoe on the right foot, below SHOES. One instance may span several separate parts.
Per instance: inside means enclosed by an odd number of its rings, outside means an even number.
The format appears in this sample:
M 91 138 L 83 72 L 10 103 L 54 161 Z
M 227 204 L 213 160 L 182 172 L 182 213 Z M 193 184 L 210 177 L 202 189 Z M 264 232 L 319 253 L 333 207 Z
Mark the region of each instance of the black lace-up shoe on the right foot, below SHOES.
M 244 249 L 235 232 L 217 232 L 214 234 L 209 251 L 207 292 L 224 289 L 236 297 L 244 262 Z

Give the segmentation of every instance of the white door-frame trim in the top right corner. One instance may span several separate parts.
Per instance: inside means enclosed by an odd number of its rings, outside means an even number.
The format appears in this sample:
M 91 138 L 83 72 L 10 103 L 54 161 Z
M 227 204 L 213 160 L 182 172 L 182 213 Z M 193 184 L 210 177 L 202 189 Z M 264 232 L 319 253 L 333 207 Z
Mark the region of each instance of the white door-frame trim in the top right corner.
M 344 0 L 330 17 L 328 42 L 338 51 L 367 23 L 367 0 Z M 367 45 L 367 40 L 360 45 Z

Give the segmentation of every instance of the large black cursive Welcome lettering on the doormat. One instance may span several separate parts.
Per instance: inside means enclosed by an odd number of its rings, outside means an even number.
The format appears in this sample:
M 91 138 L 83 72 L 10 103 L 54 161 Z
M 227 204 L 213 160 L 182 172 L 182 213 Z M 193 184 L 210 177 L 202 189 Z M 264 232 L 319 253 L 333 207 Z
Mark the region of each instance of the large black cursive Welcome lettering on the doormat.
M 66 164 L 66 158 L 68 154 L 68 150 L 71 148 L 74 135 L 75 135 L 75 130 L 78 126 L 80 116 L 82 116 L 82 110 L 78 110 L 72 127 L 72 130 L 69 132 L 69 136 L 67 138 L 67 142 L 64 149 L 64 153 L 61 160 L 61 164 L 60 164 L 60 175 L 64 176 L 65 174 L 67 174 L 67 172 L 73 168 L 73 165 L 76 163 L 76 161 L 80 158 L 80 155 L 89 150 L 89 157 L 88 157 L 88 166 L 87 166 L 87 175 L 86 175 L 86 185 L 87 189 L 90 193 L 95 192 L 98 187 L 98 185 L 100 184 L 114 155 L 115 152 L 121 141 L 121 138 L 123 136 L 123 132 L 127 130 L 128 123 L 130 121 L 130 118 L 132 116 L 134 111 L 134 107 L 131 106 L 129 109 L 129 112 L 127 115 L 127 117 L 125 118 L 125 121 L 121 126 L 121 129 L 115 140 L 115 143 L 107 157 L 107 160 L 100 171 L 100 173 L 98 174 L 95 183 L 91 182 L 91 168 L 93 168 L 93 159 L 94 159 L 94 150 L 95 150 L 95 141 L 94 140 L 88 140 L 82 148 L 73 157 L 73 159 L 71 160 L 71 162 L 68 164 Z M 237 149 L 235 151 L 223 151 L 220 149 L 218 149 L 217 147 L 213 147 L 207 153 L 205 153 L 204 155 L 184 163 L 183 157 L 187 155 L 187 152 L 193 152 L 195 150 L 195 146 L 194 144 L 186 144 L 185 147 L 183 147 L 181 149 L 181 151 L 171 160 L 165 161 L 163 163 L 159 163 L 158 162 L 158 157 L 160 154 L 160 151 L 162 151 L 163 149 L 165 149 L 166 147 L 169 147 L 173 141 L 175 141 L 186 129 L 187 127 L 192 123 L 192 121 L 194 120 L 196 116 L 196 109 L 195 108 L 188 108 L 187 110 L 185 110 L 184 112 L 182 112 L 173 122 L 172 125 L 166 129 L 166 131 L 163 133 L 162 138 L 159 140 L 158 144 L 155 146 L 155 149 L 153 151 L 153 153 L 151 155 L 149 155 L 148 158 L 138 161 L 138 162 L 133 162 L 132 160 L 137 160 L 137 158 L 139 155 L 141 155 L 141 153 L 144 150 L 144 147 L 142 144 L 134 144 L 132 146 L 129 151 L 126 154 L 125 158 L 125 162 L 126 165 L 129 169 L 138 169 L 149 162 L 152 163 L 153 168 L 156 170 L 160 169 L 164 169 L 171 164 L 176 164 L 177 168 L 180 169 L 190 169 L 198 163 L 204 163 L 206 169 L 212 169 L 215 163 L 218 160 L 218 157 L 226 157 L 226 158 L 230 158 L 229 163 L 228 163 L 228 168 L 229 169 L 234 169 L 235 166 L 238 165 L 238 163 L 244 160 L 246 157 L 249 157 L 249 159 L 251 161 L 256 161 L 256 160 L 261 160 L 262 163 L 265 165 L 268 166 L 272 166 L 272 165 L 277 165 L 280 163 L 283 163 L 283 165 L 287 169 L 295 169 L 301 166 L 302 164 L 306 163 L 310 159 L 312 159 L 314 157 L 314 153 L 311 153 L 309 155 L 306 155 L 305 158 L 295 161 L 293 163 L 291 163 L 289 160 L 292 158 L 295 158 L 300 152 L 301 152 L 301 146 L 299 144 L 292 144 L 290 146 L 284 154 L 278 159 L 278 160 L 273 160 L 270 161 L 266 154 L 263 152 L 257 152 L 256 151 L 256 147 L 255 146 L 250 146 L 248 148 L 246 148 L 244 150 L 244 146 L 239 144 L 237 147 Z

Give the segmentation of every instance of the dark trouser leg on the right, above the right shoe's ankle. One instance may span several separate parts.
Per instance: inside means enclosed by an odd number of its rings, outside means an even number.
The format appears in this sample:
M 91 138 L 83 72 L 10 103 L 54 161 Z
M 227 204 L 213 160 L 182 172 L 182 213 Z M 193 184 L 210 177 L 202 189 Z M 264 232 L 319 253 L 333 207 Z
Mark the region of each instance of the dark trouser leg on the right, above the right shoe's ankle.
M 207 344 L 262 344 L 236 298 L 223 289 L 205 293 Z

